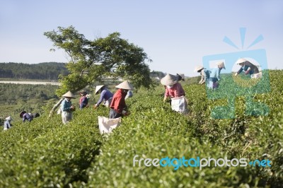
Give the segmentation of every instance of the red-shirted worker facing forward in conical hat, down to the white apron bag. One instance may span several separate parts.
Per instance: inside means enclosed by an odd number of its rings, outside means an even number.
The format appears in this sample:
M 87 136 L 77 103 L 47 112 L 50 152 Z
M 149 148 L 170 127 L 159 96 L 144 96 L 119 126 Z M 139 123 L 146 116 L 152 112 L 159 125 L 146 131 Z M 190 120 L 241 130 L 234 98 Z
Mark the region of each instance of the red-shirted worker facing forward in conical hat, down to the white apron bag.
M 163 101 L 166 102 L 167 98 L 179 98 L 185 96 L 185 90 L 180 83 L 178 83 L 178 77 L 172 74 L 167 74 L 161 78 L 161 84 L 165 86 L 165 94 Z

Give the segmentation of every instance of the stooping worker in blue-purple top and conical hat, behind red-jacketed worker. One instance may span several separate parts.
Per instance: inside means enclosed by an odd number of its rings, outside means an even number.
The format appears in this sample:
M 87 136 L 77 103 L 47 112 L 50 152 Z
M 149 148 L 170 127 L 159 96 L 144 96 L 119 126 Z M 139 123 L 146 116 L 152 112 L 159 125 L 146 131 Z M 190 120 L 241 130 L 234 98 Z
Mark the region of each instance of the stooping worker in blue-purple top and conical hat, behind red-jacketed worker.
M 112 101 L 113 93 L 111 93 L 111 91 L 108 90 L 105 85 L 96 86 L 96 94 L 98 93 L 100 93 L 100 98 L 96 105 L 94 105 L 94 108 L 98 107 L 103 100 L 103 105 L 109 107 Z

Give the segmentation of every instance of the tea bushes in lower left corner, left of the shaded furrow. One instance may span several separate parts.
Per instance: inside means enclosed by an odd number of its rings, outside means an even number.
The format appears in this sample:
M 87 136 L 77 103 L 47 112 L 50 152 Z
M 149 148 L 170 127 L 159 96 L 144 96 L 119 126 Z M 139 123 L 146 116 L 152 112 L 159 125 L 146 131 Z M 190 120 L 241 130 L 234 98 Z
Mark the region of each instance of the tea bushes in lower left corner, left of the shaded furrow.
M 77 114 L 91 122 L 86 112 Z M 86 122 L 62 127 L 60 115 L 48 120 L 39 117 L 1 132 L 0 187 L 64 187 L 86 182 L 85 170 L 101 144 L 97 124 Z

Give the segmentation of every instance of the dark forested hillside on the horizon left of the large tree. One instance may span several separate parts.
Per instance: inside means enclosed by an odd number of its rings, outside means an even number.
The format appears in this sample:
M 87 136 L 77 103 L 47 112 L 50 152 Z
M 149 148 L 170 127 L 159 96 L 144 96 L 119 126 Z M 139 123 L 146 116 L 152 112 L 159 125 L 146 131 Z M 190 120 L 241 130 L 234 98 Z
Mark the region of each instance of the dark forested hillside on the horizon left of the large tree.
M 58 80 L 59 74 L 69 71 L 64 63 L 46 62 L 40 64 L 0 63 L 0 78 Z

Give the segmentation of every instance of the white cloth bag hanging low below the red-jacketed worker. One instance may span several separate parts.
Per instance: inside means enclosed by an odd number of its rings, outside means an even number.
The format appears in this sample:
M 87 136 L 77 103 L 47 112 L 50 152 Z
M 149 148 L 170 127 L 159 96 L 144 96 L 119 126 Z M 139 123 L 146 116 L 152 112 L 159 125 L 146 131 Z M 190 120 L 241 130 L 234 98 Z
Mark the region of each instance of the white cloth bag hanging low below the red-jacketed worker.
M 121 123 L 121 117 L 110 119 L 108 117 L 98 116 L 98 125 L 100 134 L 108 134 L 112 132 L 113 129 L 118 127 Z

